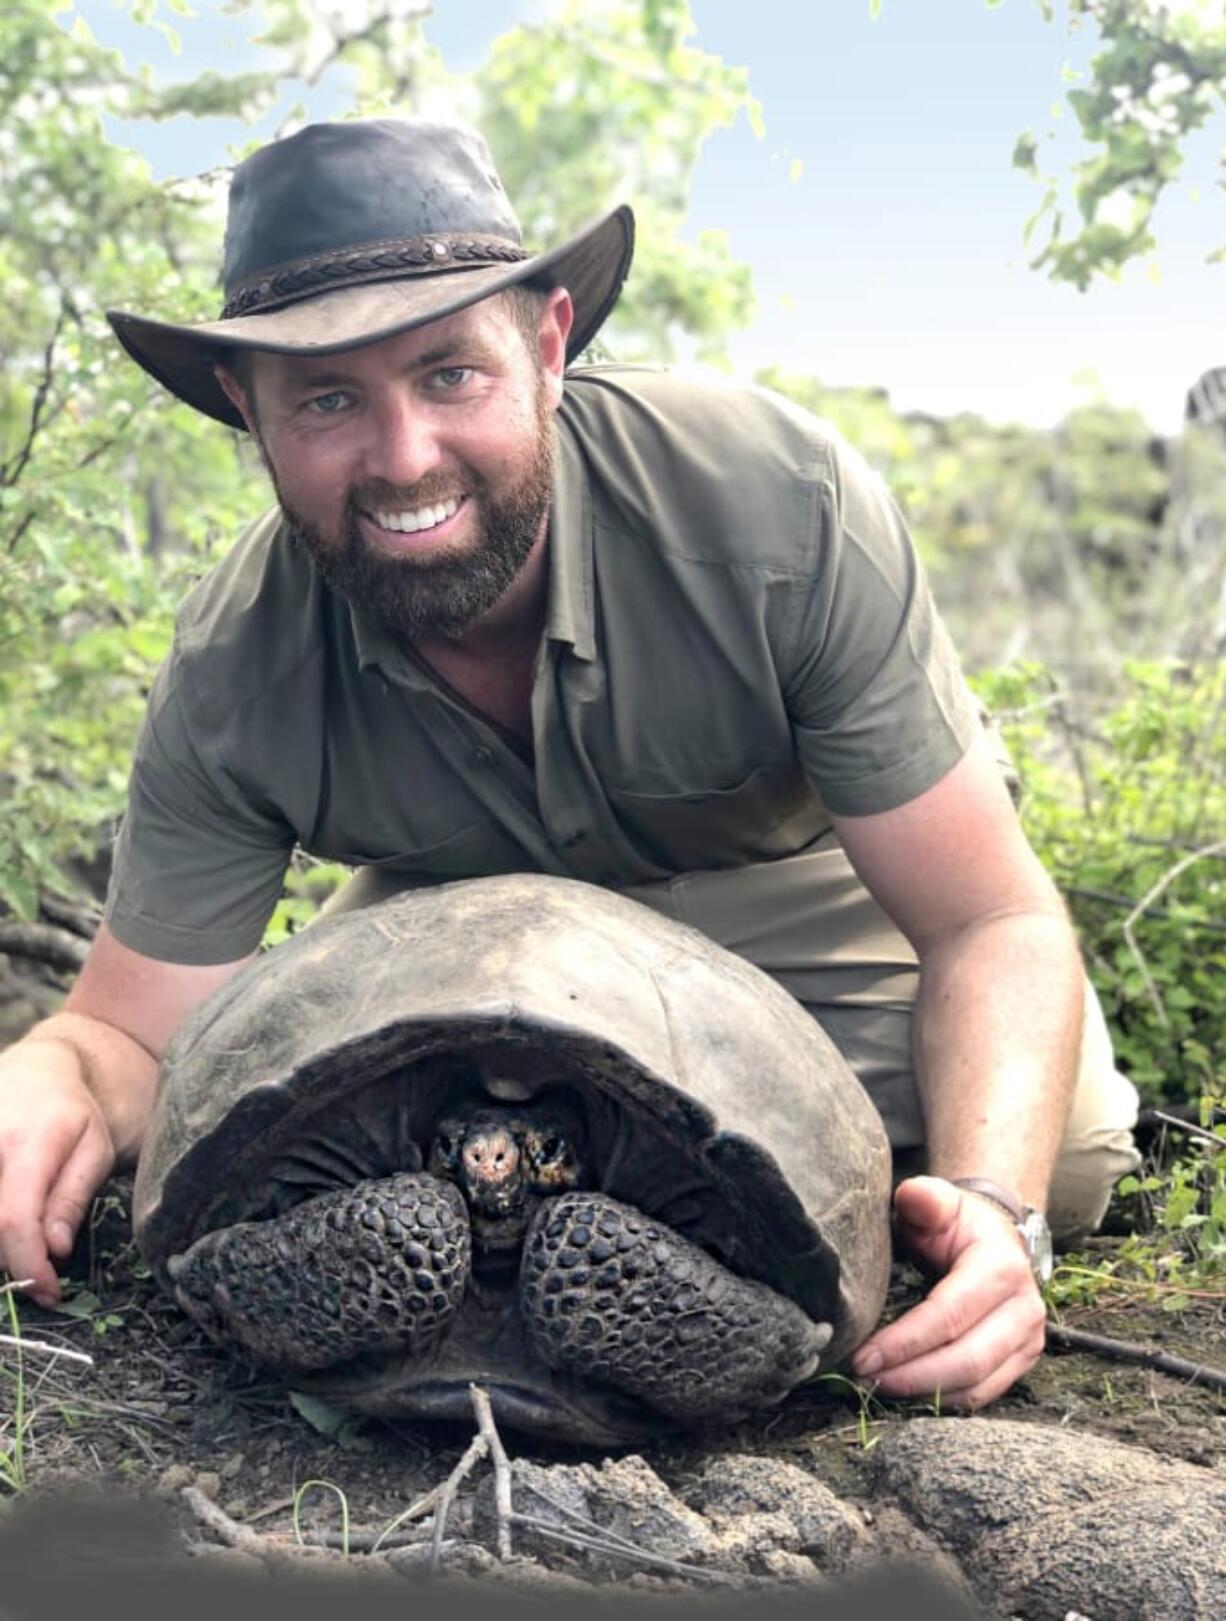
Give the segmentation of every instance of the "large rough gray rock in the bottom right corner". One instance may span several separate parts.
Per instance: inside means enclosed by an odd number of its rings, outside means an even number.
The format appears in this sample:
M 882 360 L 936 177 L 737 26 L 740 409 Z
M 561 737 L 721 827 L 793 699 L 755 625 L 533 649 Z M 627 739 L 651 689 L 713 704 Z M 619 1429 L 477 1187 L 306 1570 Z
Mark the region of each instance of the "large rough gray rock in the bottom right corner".
M 918 1418 L 885 1435 L 877 1483 L 1027 1621 L 1226 1615 L 1226 1478 L 1085 1433 Z

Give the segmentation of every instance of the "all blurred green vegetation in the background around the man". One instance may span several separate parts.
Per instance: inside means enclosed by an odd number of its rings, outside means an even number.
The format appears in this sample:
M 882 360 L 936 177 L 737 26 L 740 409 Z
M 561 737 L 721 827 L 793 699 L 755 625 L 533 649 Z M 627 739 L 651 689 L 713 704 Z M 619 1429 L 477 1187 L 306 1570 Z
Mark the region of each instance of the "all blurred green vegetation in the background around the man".
M 105 115 L 255 118 L 279 81 L 313 83 L 344 60 L 355 113 L 446 96 L 480 125 L 532 243 L 634 199 L 639 256 L 607 353 L 718 363 L 752 313 L 749 269 L 725 238 L 679 235 L 707 135 L 764 117 L 744 73 L 689 42 L 686 0 L 571 0 L 504 34 L 467 76 L 425 41 L 418 0 L 263 10 L 276 73 L 170 88 L 83 24 L 57 26 L 47 0 L 8 0 L 0 16 L 0 952 L 24 971 L 42 963 L 15 1016 L 79 961 L 175 605 L 268 501 L 243 439 L 120 357 L 102 314 L 216 314 L 229 170 L 156 185 L 105 139 Z M 165 28 L 151 5 L 131 11 Z M 1083 287 L 1151 246 L 1181 144 L 1221 105 L 1226 24 L 1221 8 L 1156 0 L 1064 11 L 1103 39 L 1069 97 L 1091 156 L 1041 175 L 1023 135 L 1014 160 L 1043 188 L 1036 274 Z M 1028 832 L 1069 898 L 1122 1067 L 1147 1102 L 1224 1138 L 1226 428 L 1208 397 L 1182 434 L 1158 438 L 1108 400 L 1043 431 L 900 415 L 877 389 L 783 366 L 759 381 L 834 420 L 902 504 L 963 663 L 1005 725 Z M 269 940 L 334 880 L 310 864 L 295 874 Z M 1207 1140 L 1190 1153 L 1190 1196 L 1172 1203 L 1168 1180 L 1151 1203 L 1197 1264 L 1216 1264 L 1226 1156 Z

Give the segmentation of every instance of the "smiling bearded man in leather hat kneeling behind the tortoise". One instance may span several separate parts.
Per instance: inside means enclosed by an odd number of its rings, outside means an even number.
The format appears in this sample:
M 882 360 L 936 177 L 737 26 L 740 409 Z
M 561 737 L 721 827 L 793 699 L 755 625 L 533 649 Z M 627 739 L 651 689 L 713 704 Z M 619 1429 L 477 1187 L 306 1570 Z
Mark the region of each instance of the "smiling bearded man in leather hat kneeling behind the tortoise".
M 480 138 L 316 125 L 235 173 L 219 321 L 112 313 L 279 506 L 188 598 L 107 921 L 2 1060 L 0 1260 L 55 1297 L 295 843 L 363 867 L 341 905 L 537 869 L 822 1018 L 931 1172 L 895 1217 L 939 1282 L 855 1371 L 981 1405 L 1043 1347 L 1038 1213 L 1101 1219 L 1135 1094 L 876 478 L 761 391 L 566 373 L 631 233 L 532 258 Z

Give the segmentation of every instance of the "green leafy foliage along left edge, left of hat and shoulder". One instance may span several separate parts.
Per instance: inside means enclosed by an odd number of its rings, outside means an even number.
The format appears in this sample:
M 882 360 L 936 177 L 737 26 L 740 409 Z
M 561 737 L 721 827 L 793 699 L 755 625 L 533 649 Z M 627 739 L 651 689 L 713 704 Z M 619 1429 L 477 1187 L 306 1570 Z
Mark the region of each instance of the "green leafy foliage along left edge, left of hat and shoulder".
M 229 91 L 227 91 L 229 97 Z M 208 196 L 104 139 L 152 91 L 39 0 L 0 16 L 0 901 L 19 916 L 122 807 L 174 605 L 234 533 L 232 436 L 118 360 L 109 305 L 212 313 Z

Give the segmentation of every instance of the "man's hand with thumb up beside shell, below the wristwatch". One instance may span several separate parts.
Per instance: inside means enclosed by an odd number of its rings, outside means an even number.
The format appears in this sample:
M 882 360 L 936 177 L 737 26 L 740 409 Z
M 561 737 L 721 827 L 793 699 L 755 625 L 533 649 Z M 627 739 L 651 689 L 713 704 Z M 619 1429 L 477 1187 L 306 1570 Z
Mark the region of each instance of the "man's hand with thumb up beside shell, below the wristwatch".
M 911 1177 L 894 1195 L 900 1247 L 939 1274 L 928 1298 L 872 1334 L 851 1368 L 884 1396 L 931 1396 L 983 1407 L 1043 1352 L 1046 1310 L 1022 1240 L 1004 1211 L 941 1177 Z

